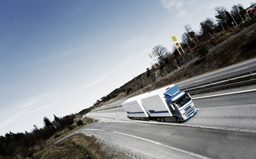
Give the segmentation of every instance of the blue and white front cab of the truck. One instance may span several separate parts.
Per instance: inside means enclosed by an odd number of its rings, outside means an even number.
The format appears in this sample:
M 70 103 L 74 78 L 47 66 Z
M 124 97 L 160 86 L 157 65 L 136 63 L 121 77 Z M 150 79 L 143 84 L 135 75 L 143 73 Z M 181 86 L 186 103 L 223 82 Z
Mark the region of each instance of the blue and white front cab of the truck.
M 164 98 L 172 112 L 172 116 L 176 118 L 178 123 L 187 121 L 198 112 L 191 96 L 178 89 L 177 85 L 171 85 L 171 87 L 167 88 L 164 92 Z

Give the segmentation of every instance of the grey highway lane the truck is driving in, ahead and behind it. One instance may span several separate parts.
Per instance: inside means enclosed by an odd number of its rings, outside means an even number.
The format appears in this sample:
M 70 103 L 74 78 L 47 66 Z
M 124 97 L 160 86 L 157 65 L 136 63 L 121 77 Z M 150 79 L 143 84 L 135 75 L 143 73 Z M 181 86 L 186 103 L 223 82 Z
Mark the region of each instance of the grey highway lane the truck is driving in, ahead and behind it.
M 241 88 L 243 89 L 243 88 Z M 240 91 L 236 91 L 240 92 Z M 210 93 L 211 94 L 211 93 Z M 196 95 L 198 96 L 198 95 Z M 256 91 L 192 99 L 198 113 L 182 125 L 203 125 L 256 130 Z M 88 113 L 88 117 L 128 119 L 123 108 Z

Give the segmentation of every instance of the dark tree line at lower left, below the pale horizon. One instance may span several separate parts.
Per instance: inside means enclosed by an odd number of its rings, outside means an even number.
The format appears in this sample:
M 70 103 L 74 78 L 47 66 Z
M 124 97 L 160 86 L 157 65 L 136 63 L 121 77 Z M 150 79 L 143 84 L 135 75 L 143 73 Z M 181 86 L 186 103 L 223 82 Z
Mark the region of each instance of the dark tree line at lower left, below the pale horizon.
M 54 121 L 50 121 L 47 117 L 44 117 L 44 127 L 38 129 L 36 125 L 32 129 L 32 132 L 25 133 L 13 132 L 6 133 L 5 136 L 0 136 L 0 156 L 4 158 L 14 158 L 19 155 L 21 158 L 32 157 L 34 153 L 35 144 L 40 148 L 46 148 L 45 140 L 50 138 L 55 132 L 62 131 L 65 128 L 73 129 L 72 124 L 76 115 L 66 115 L 64 117 L 56 117 L 54 115 Z M 81 124 L 81 123 L 80 123 Z

